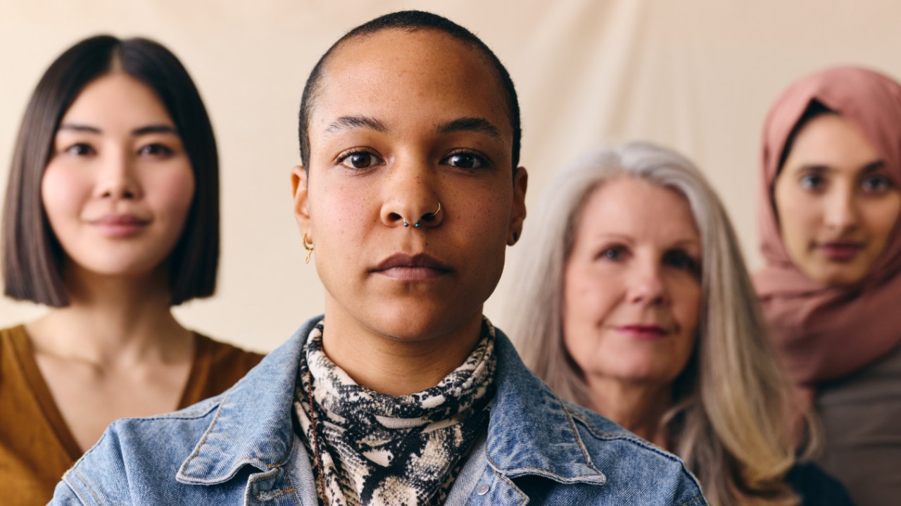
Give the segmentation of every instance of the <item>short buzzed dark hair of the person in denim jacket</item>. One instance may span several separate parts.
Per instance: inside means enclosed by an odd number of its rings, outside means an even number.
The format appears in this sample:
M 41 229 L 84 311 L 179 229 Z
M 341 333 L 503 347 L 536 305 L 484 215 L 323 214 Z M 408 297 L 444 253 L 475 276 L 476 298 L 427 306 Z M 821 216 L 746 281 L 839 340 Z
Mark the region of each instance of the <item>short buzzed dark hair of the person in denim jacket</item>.
M 304 95 L 300 101 L 300 114 L 298 122 L 298 138 L 300 140 L 300 159 L 306 170 L 310 168 L 310 115 L 313 110 L 316 94 L 319 91 L 320 81 L 323 77 L 323 69 L 332 52 L 339 48 L 341 44 L 353 39 L 367 37 L 369 35 L 381 32 L 383 30 L 401 30 L 405 32 L 416 32 L 419 30 L 434 30 L 450 35 L 453 39 L 463 42 L 472 49 L 481 53 L 488 63 L 494 68 L 497 78 L 500 82 L 502 95 L 506 102 L 507 117 L 510 120 L 510 126 L 513 128 L 513 170 L 519 166 L 519 151 L 523 137 L 523 130 L 520 124 L 519 99 L 516 97 L 516 89 L 513 85 L 513 79 L 510 73 L 497 59 L 495 53 L 488 49 L 485 42 L 481 41 L 474 33 L 463 28 L 451 20 L 441 17 L 438 14 L 426 13 L 423 11 L 400 11 L 391 14 L 385 14 L 372 21 L 363 23 L 347 32 L 341 39 L 332 44 L 329 50 L 325 51 L 323 57 L 316 62 L 310 77 L 306 79 L 304 86 Z

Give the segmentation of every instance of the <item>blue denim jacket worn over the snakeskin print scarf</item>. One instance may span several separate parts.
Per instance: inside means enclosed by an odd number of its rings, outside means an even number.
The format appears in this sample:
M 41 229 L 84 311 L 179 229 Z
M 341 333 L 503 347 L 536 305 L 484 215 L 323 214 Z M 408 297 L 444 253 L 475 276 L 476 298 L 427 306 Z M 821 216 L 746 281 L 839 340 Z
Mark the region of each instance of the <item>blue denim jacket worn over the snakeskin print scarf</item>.
M 166 415 L 114 422 L 50 504 L 316 506 L 293 401 L 301 349 L 319 318 L 238 384 Z M 446 504 L 703 506 L 676 456 L 563 402 L 496 332 L 496 398 Z

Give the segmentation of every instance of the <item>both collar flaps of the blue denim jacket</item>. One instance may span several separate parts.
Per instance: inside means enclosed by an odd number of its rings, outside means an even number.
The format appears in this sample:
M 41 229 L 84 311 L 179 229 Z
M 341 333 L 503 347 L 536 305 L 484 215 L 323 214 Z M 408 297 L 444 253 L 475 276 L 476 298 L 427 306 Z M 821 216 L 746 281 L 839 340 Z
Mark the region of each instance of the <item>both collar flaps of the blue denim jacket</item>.
M 182 463 L 177 481 L 223 483 L 243 465 L 267 471 L 287 461 L 294 440 L 293 403 L 301 350 L 321 318 L 306 321 L 291 339 L 222 394 L 214 420 Z M 496 399 L 486 444 L 489 465 L 511 478 L 538 474 L 560 483 L 605 483 L 605 474 L 588 456 L 572 413 L 525 368 L 500 330 L 496 330 L 495 350 Z M 207 404 L 207 409 L 214 408 L 215 403 Z

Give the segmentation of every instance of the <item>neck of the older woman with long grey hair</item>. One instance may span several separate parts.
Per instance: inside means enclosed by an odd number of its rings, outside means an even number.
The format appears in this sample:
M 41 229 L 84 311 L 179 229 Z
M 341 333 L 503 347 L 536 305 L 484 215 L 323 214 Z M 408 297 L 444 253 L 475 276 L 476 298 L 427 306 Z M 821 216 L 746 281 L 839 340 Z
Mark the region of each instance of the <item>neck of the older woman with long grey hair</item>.
M 660 420 L 672 404 L 671 384 L 636 384 L 589 378 L 591 409 L 659 447 L 668 446 Z

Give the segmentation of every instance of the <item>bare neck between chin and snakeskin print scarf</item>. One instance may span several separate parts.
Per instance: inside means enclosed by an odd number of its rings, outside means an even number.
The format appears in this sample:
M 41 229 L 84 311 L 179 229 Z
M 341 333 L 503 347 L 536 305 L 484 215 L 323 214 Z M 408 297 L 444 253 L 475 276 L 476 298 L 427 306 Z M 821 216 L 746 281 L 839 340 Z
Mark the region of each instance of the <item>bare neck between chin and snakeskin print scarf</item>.
M 378 393 L 405 395 L 439 384 L 459 367 L 481 337 L 481 313 L 429 339 L 398 339 L 369 330 L 345 312 L 329 311 L 323 350 L 350 377 Z

